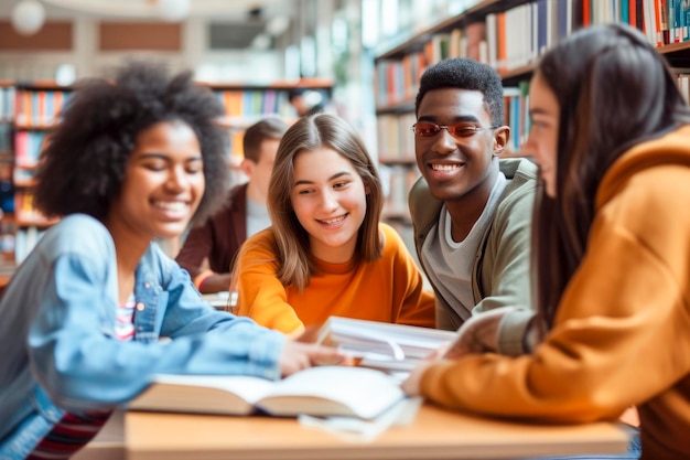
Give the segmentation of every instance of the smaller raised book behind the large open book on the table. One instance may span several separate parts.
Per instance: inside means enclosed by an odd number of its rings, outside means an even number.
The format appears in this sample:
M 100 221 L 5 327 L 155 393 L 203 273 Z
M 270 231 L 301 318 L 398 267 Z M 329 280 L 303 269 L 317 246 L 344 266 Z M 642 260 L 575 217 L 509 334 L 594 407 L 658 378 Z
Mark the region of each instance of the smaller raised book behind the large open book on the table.
M 316 342 L 362 359 L 364 367 L 409 372 L 456 335 L 455 331 L 331 317 L 319 330 Z

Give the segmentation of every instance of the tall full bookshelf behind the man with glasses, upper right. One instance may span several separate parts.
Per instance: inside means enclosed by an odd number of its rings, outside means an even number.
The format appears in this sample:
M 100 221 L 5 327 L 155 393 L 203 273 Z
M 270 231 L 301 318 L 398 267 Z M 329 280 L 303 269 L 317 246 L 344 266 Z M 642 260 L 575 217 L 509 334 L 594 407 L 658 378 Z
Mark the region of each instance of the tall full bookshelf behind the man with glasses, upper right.
M 388 173 L 384 217 L 411 234 L 407 196 L 418 176 L 411 126 L 424 69 L 446 57 L 472 57 L 498 71 L 505 88 L 507 156 L 529 132 L 529 78 L 539 56 L 572 31 L 624 22 L 656 45 L 690 94 L 690 7 L 678 0 L 484 0 L 379 50 L 374 60 L 379 163 Z M 405 17 L 405 14 L 402 14 Z M 400 28 L 405 29 L 405 28 Z M 407 28 L 408 30 L 414 28 Z M 405 235 L 403 235 L 405 236 Z

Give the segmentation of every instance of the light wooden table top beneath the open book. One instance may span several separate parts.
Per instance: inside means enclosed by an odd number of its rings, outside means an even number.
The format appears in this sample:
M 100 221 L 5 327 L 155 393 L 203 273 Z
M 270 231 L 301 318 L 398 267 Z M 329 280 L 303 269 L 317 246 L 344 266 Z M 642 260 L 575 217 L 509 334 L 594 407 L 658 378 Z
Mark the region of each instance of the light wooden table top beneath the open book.
M 546 426 L 499 421 L 423 405 L 414 420 L 357 442 L 293 418 L 129 411 L 129 460 L 515 459 L 625 452 L 614 424 Z

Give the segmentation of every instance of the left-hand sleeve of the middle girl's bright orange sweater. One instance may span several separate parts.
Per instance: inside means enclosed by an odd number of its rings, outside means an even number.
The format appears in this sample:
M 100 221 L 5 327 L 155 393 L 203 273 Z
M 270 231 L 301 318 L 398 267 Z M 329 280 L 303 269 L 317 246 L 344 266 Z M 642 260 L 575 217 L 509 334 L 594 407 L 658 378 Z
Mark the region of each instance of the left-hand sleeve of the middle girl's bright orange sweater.
M 278 331 L 297 334 L 304 329 L 288 303 L 284 286 L 276 277 L 278 260 L 273 231 L 268 228 L 247 239 L 237 260 L 237 314 Z

